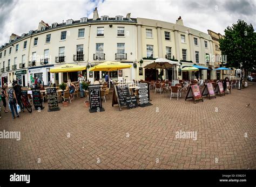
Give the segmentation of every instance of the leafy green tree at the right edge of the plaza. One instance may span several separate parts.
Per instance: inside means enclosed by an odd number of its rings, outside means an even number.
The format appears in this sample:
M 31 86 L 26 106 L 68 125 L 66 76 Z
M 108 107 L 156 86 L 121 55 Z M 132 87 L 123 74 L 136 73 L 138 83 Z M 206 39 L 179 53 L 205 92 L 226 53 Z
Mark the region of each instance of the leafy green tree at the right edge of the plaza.
M 256 69 L 256 34 L 252 24 L 239 19 L 224 32 L 224 38 L 219 40 L 221 55 L 226 55 L 224 66 L 241 69 L 246 76 Z

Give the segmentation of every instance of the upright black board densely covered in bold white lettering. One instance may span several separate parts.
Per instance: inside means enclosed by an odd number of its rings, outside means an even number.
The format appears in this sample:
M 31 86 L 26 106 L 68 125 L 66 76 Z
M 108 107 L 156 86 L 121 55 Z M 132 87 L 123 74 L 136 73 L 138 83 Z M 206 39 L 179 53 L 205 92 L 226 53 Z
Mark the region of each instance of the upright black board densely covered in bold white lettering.
M 151 106 L 150 101 L 150 92 L 149 92 L 149 84 L 147 83 L 139 83 L 139 106 Z

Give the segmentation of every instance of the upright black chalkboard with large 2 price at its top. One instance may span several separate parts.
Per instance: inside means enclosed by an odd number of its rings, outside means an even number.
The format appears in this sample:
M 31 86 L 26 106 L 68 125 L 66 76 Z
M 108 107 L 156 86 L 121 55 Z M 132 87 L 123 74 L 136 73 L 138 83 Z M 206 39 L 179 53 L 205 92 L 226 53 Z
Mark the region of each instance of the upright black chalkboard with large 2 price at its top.
M 105 109 L 102 107 L 102 97 L 100 97 L 100 84 L 89 85 L 89 112 L 103 112 Z

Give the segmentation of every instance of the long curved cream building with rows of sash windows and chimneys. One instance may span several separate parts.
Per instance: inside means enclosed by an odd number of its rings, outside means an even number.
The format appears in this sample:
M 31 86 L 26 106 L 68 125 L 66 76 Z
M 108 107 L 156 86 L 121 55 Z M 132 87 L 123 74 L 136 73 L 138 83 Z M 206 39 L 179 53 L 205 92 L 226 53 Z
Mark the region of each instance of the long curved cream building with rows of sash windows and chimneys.
M 104 61 L 120 61 L 133 64 L 131 69 L 113 71 L 110 75 L 116 80 L 156 80 L 159 70 L 144 67 L 157 57 L 166 57 L 180 62 L 180 79 L 188 78 L 181 73 L 185 66 L 207 67 L 197 76 L 204 79 L 215 78 L 212 61 L 213 44 L 210 35 L 188 28 L 183 20 L 177 23 L 126 17 L 98 16 L 93 18 L 66 20 L 66 23 L 40 21 L 37 30 L 31 30 L 21 36 L 12 34 L 9 43 L 0 47 L 1 83 L 18 79 L 23 86 L 31 85 L 32 77 L 41 79 L 44 85 L 49 81 L 59 84 L 77 80 L 78 72 L 49 72 L 50 68 L 64 63 L 76 63 L 93 67 Z M 136 64 L 137 66 L 135 66 Z M 83 71 L 86 80 L 105 77 L 104 71 Z M 163 78 L 171 78 L 172 71 L 165 70 Z

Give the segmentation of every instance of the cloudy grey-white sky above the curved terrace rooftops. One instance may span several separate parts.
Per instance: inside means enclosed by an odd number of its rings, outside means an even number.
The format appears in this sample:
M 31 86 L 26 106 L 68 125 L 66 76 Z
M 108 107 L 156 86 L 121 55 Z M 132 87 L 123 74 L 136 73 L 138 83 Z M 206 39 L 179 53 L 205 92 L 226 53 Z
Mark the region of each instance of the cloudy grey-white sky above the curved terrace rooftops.
M 21 35 L 36 30 L 39 21 L 62 23 L 72 18 L 92 18 L 97 6 L 99 16 L 150 18 L 175 23 L 181 16 L 184 25 L 207 33 L 224 29 L 238 19 L 256 28 L 256 0 L 0 0 L 0 45 L 11 33 Z

